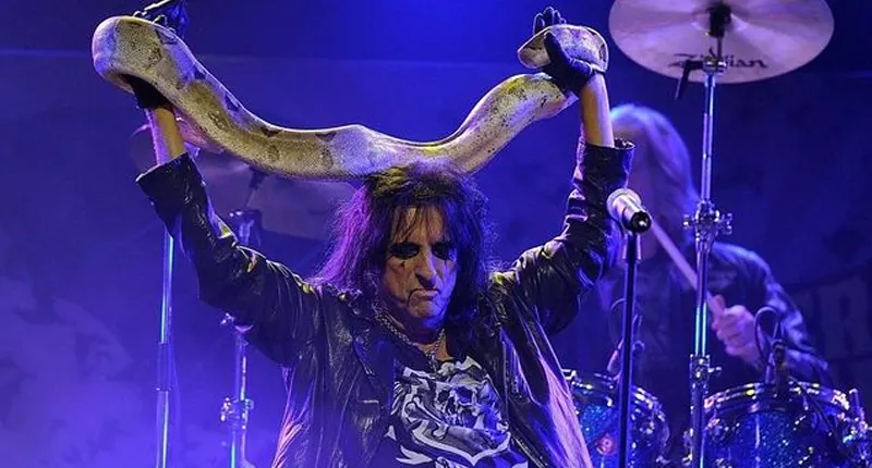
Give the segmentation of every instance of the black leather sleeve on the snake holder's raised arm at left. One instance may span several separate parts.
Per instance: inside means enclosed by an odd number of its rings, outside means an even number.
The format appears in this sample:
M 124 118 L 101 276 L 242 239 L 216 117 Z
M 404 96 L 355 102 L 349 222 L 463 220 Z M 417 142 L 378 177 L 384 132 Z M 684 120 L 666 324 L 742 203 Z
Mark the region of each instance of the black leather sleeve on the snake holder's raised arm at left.
M 193 264 L 201 299 L 232 316 L 269 358 L 292 362 L 317 333 L 318 291 L 284 266 L 239 245 L 213 210 L 187 155 L 136 182 Z

